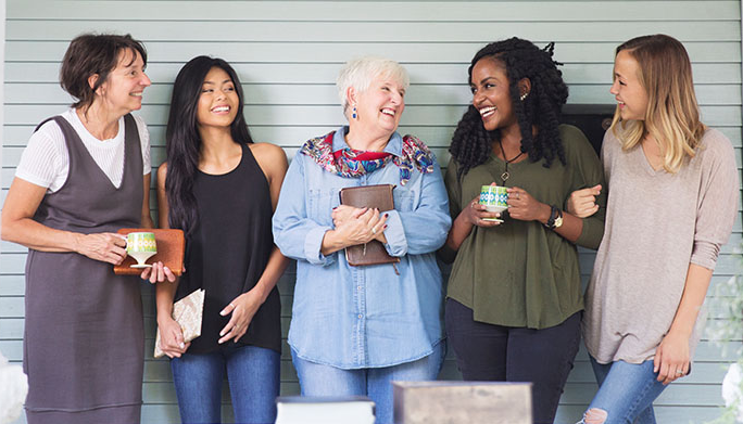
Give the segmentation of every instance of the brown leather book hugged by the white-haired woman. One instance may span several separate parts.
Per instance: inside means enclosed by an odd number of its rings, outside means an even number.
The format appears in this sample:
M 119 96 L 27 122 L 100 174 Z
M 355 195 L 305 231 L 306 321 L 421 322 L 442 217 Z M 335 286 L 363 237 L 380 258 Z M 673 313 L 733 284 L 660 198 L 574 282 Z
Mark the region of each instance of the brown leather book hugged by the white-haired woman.
M 349 187 L 341 189 L 341 205 L 353 207 L 377 208 L 380 211 L 394 209 L 392 197 L 393 184 L 377 184 Z M 345 260 L 353 267 L 363 265 L 379 265 L 399 262 L 400 258 L 390 256 L 385 245 L 373 240 L 366 244 L 358 244 L 345 248 Z

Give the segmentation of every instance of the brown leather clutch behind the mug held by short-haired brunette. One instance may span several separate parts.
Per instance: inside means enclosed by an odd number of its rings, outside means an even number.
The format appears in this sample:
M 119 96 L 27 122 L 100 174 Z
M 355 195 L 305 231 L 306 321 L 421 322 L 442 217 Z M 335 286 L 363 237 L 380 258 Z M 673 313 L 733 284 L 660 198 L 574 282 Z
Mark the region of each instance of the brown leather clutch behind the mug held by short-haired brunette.
M 117 231 L 119 234 L 128 234 L 135 231 L 147 231 L 155 234 L 158 253 L 147 260 L 147 264 L 162 261 L 174 274 L 180 275 L 184 272 L 184 254 L 186 252 L 186 240 L 182 230 L 159 229 L 159 228 L 123 228 Z M 139 275 L 141 269 L 131 268 L 137 264 L 135 258 L 127 256 L 119 265 L 114 265 L 114 273 L 117 275 Z

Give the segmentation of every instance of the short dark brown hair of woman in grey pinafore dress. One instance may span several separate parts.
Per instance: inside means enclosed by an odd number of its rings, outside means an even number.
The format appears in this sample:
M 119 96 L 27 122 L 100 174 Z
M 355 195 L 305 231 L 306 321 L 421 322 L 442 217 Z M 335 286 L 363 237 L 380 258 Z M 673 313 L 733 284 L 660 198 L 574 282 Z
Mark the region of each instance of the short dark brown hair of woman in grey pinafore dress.
M 96 90 L 106 81 L 109 74 L 118 65 L 119 53 L 126 50 L 133 53 L 131 62 L 137 60 L 135 53 L 139 53 L 147 65 L 144 44 L 128 34 L 83 34 L 72 40 L 62 60 L 60 86 L 77 99 L 73 107 L 87 108 L 93 103 Z M 96 74 L 98 80 L 90 87 L 88 78 Z

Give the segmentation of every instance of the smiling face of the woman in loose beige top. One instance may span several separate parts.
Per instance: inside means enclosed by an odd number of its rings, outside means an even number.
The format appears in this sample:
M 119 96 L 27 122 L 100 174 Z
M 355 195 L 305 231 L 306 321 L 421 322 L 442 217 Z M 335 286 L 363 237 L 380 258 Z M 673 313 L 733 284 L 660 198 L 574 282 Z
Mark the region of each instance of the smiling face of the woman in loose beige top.
M 647 111 L 647 90 L 640 80 L 640 64 L 627 50 L 614 60 L 614 83 L 609 92 L 617 100 L 624 120 L 644 120 Z

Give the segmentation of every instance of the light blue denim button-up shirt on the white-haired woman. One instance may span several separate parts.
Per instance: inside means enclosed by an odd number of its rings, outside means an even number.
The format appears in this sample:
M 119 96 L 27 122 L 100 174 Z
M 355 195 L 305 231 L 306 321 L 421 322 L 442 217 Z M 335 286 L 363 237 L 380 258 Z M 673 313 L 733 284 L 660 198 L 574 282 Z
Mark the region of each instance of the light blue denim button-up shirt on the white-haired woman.
M 332 150 L 347 147 L 342 127 Z M 402 137 L 392 134 L 385 152 L 400 155 Z M 400 168 L 358 178 L 324 170 L 310 156 L 294 156 L 274 214 L 274 241 L 297 259 L 297 285 L 289 345 L 305 360 L 341 369 L 390 367 L 426 357 L 443 338 L 441 272 L 435 252 L 451 226 L 441 169 L 415 169 L 405 185 Z M 345 187 L 396 184 L 389 214 L 386 248 L 400 257 L 398 275 L 390 264 L 351 267 L 343 250 L 320 254 L 332 229 L 332 208 Z

